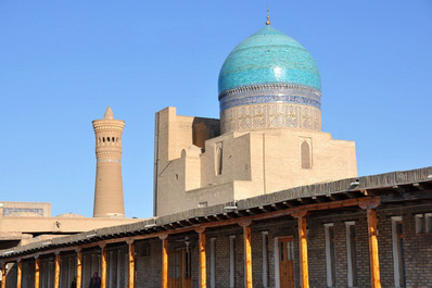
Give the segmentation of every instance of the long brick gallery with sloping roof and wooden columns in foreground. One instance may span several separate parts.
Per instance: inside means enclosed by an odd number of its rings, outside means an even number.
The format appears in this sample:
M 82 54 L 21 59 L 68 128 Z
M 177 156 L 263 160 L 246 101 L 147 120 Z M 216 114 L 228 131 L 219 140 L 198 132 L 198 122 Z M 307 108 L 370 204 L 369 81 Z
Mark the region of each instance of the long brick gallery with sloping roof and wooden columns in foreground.
M 303 186 L 0 251 L 2 288 L 431 287 L 432 167 Z

